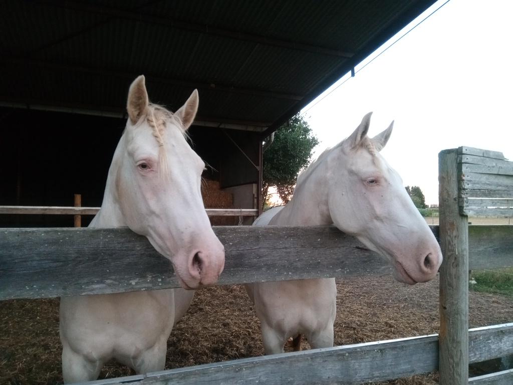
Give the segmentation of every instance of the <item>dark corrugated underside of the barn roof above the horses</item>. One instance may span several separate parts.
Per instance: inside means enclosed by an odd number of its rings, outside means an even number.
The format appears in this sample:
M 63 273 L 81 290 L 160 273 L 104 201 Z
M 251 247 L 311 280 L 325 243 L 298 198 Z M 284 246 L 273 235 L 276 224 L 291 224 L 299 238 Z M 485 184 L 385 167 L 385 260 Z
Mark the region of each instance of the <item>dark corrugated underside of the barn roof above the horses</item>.
M 32 0 L 2 3 L 0 106 L 124 114 L 144 73 L 197 123 L 266 133 L 434 0 Z

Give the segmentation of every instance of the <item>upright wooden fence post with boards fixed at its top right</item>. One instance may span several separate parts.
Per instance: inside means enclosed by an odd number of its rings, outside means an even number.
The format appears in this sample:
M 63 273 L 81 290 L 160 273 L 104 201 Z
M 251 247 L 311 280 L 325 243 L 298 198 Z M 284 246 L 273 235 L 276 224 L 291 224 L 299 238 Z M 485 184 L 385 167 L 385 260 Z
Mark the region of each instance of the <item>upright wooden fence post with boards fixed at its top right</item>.
M 439 155 L 439 182 L 444 255 L 440 269 L 440 383 L 463 385 L 468 383 L 469 362 L 468 271 L 474 268 L 470 263 L 472 235 L 468 216 L 512 216 L 513 162 L 496 151 L 470 147 L 444 150 Z M 511 235 L 507 237 L 513 243 Z M 491 236 L 483 242 L 490 251 L 498 245 Z M 513 265 L 513 248 L 508 248 L 504 263 L 495 267 Z M 486 255 L 480 258 L 486 261 Z

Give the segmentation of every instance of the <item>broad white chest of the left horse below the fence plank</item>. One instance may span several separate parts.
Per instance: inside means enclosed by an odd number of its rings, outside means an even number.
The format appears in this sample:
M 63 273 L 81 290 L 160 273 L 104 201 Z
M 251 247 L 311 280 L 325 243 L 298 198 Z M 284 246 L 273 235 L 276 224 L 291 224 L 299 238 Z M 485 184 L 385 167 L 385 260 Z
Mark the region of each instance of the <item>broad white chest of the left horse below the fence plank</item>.
M 77 352 L 133 354 L 167 338 L 174 298 L 166 290 L 69 297 L 61 303 L 61 335 Z

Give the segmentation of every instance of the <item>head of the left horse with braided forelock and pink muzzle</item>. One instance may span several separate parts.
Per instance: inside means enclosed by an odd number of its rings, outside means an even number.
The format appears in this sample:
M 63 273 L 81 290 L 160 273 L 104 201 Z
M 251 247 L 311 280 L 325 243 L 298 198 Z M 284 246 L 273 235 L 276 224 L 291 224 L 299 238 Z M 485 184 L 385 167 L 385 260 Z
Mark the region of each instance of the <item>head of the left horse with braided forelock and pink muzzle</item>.
M 205 164 L 186 139 L 198 102 L 194 90 L 175 113 L 150 104 L 139 76 L 128 92 L 129 119 L 112 162 L 123 222 L 172 262 L 185 288 L 215 283 L 224 267 L 224 247 L 201 196 Z

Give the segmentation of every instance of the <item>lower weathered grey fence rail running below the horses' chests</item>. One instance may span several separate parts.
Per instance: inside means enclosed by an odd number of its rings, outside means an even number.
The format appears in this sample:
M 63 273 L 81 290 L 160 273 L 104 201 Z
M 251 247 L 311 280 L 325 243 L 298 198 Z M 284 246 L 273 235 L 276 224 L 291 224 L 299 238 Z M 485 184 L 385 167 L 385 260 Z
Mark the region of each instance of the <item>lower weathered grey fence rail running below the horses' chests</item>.
M 495 344 L 506 346 L 512 342 L 513 324 L 471 329 L 469 338 L 471 362 L 495 358 L 496 353 L 503 352 L 502 349 L 494 352 Z M 133 376 L 93 381 L 88 384 L 356 385 L 436 371 L 437 341 L 437 335 L 430 335 L 368 342 L 148 373 L 143 379 L 140 376 Z

